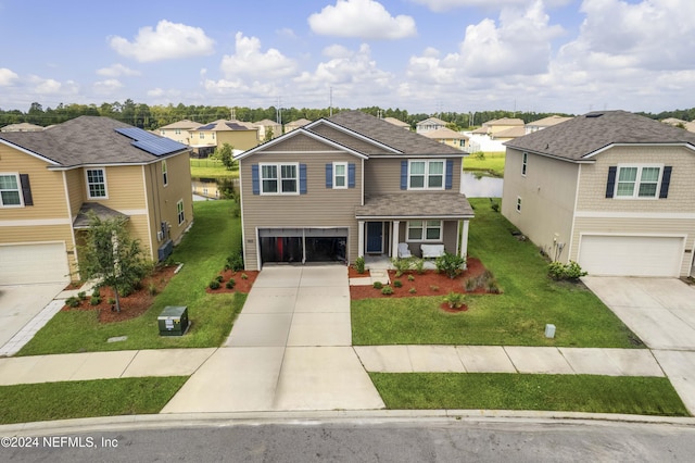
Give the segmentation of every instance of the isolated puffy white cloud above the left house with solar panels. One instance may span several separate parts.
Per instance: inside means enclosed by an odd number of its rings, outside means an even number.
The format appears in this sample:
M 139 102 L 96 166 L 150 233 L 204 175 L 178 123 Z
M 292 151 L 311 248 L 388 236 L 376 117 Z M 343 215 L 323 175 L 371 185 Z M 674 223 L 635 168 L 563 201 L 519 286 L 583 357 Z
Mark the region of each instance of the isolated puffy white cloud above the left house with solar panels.
M 160 21 L 156 29 L 151 26 L 140 28 L 134 41 L 116 36 L 109 42 L 118 54 L 139 62 L 207 55 L 213 53 L 214 45 L 200 27 L 166 20 Z

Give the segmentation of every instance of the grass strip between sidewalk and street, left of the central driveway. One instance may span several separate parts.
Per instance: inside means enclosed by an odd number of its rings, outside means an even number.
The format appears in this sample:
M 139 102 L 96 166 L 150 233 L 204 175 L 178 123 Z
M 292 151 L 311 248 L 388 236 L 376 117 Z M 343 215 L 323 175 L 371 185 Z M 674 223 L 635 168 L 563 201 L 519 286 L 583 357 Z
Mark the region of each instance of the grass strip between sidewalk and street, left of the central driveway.
M 0 424 L 159 413 L 188 376 L 0 386 Z

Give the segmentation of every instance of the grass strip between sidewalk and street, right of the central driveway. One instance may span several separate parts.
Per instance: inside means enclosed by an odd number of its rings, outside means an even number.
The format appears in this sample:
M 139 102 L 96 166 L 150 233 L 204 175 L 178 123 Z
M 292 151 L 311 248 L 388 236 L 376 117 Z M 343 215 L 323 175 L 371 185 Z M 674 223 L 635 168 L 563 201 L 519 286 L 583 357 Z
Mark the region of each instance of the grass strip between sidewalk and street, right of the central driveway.
M 370 373 L 393 410 L 545 410 L 690 416 L 668 378 L 503 373 Z

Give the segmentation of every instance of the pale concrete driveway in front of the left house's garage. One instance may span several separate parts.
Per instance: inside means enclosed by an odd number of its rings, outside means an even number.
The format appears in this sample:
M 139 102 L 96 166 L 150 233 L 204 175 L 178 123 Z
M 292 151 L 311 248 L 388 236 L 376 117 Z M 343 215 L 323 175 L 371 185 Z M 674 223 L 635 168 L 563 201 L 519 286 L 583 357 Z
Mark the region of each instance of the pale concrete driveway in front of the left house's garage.
M 31 322 L 65 285 L 59 283 L 0 286 L 0 349 Z

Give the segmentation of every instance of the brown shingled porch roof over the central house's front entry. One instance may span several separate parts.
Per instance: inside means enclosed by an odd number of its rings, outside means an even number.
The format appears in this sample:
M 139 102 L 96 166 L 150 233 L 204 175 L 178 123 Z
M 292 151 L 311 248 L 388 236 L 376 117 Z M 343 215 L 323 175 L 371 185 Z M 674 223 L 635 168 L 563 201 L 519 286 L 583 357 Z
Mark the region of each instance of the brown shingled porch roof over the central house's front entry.
M 365 198 L 355 208 L 357 220 L 372 218 L 472 218 L 465 195 L 451 191 L 410 191 Z

